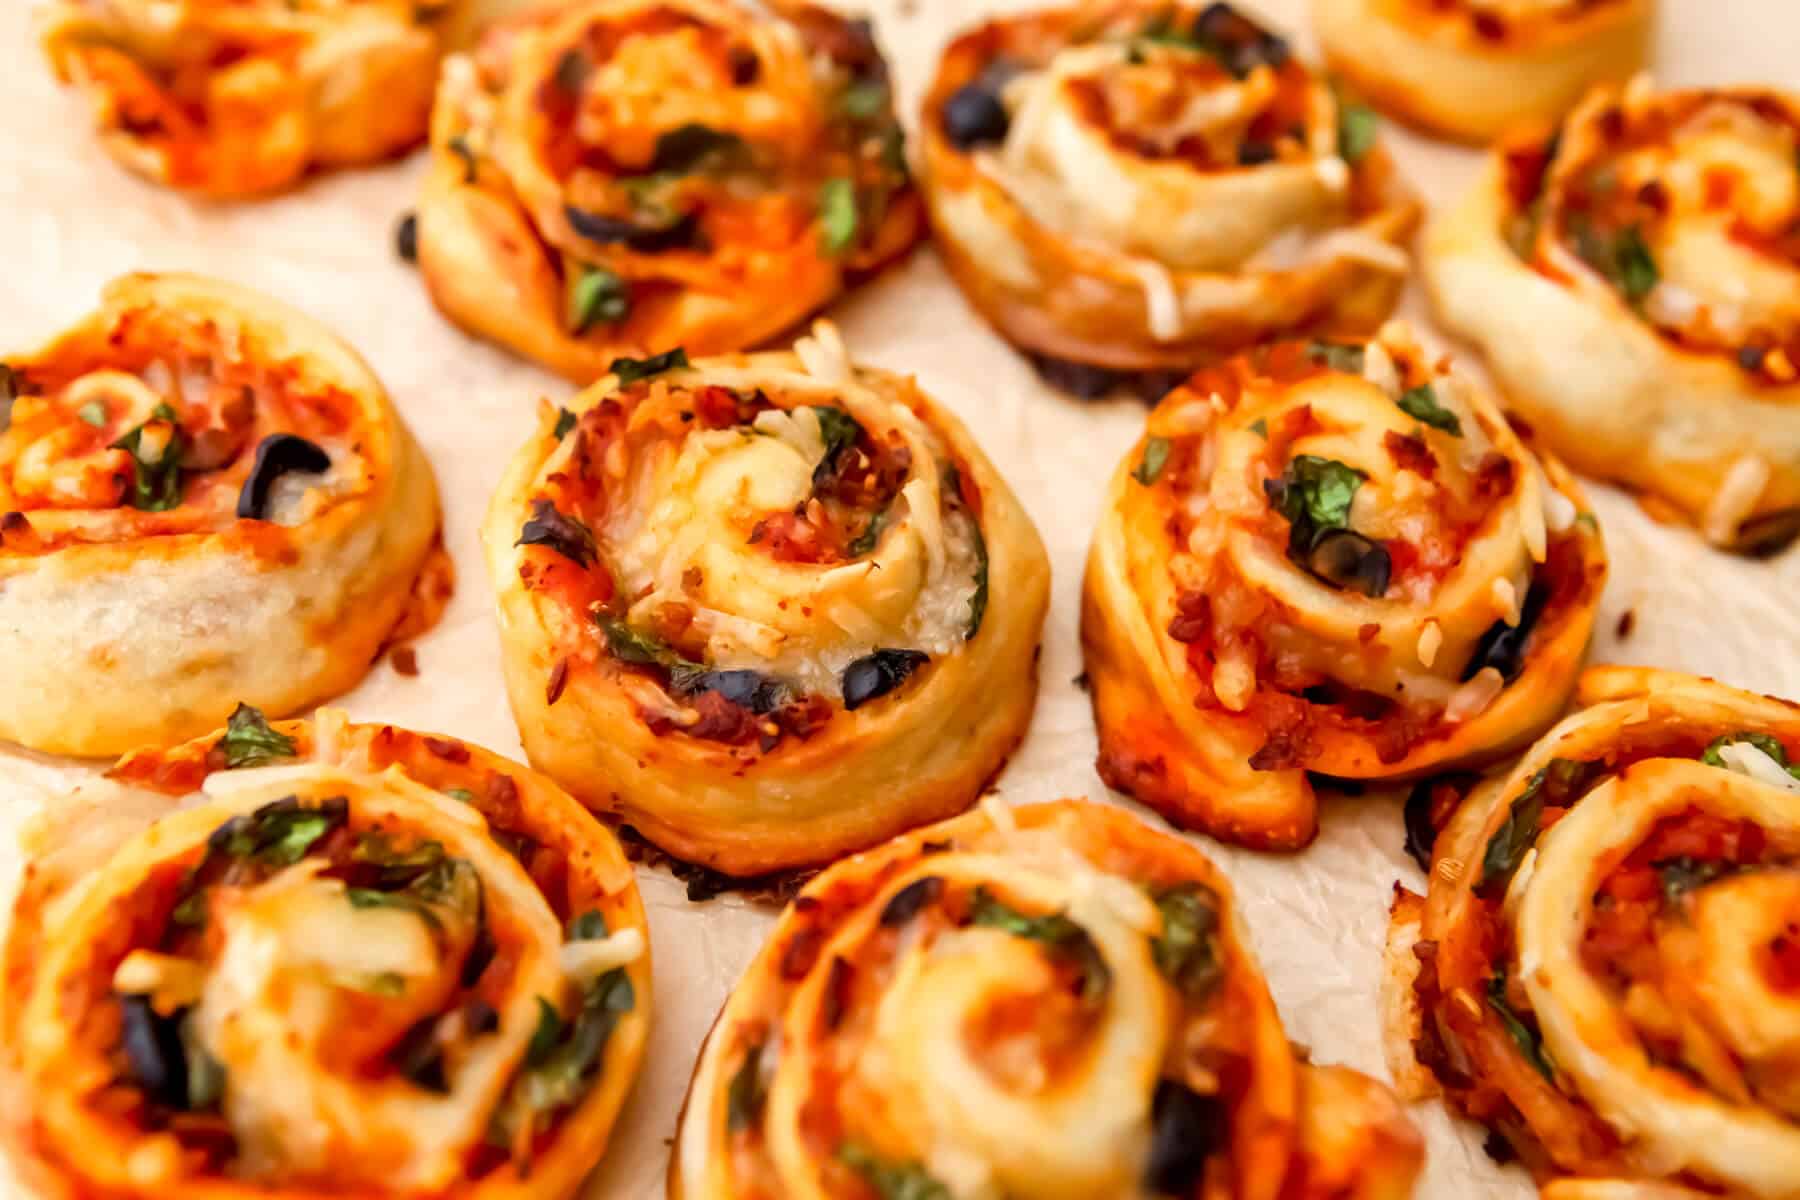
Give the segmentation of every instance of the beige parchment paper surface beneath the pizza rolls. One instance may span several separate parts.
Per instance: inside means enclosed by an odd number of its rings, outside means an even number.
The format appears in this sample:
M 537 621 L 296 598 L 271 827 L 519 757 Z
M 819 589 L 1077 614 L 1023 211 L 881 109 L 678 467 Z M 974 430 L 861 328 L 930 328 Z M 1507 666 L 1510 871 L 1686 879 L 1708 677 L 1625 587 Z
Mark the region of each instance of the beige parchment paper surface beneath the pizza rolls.
M 1310 54 L 1305 0 L 1246 0 Z M 58 92 L 36 52 L 34 0 L 0 0 L 0 354 L 34 345 L 85 313 L 101 284 L 130 270 L 191 270 L 259 288 L 335 327 L 374 365 L 410 421 L 445 498 L 459 587 L 439 628 L 416 644 L 419 675 L 378 664 L 340 703 L 355 720 L 439 730 L 518 754 L 500 689 L 491 592 L 477 525 L 502 462 L 533 425 L 540 396 L 569 389 L 452 329 L 430 306 L 392 230 L 412 207 L 423 160 L 335 175 L 266 203 L 211 205 L 146 185 L 103 155 L 85 108 Z M 940 49 L 988 13 L 1022 0 L 873 0 L 905 112 L 916 108 Z M 1656 74 L 1667 85 L 1800 85 L 1793 0 L 1665 0 Z M 1467 184 L 1478 157 L 1388 135 L 1433 207 Z M 1417 290 L 1404 311 L 1424 318 Z M 999 779 L 1004 801 L 1109 795 L 1094 774 L 1094 730 L 1076 610 L 1082 563 L 1103 480 L 1136 441 L 1143 407 L 1080 403 L 1042 387 L 981 326 L 923 248 L 830 313 L 866 362 L 920 376 L 976 432 L 1049 545 L 1055 594 L 1044 630 L 1042 698 L 1030 738 Z M 1800 696 L 1800 549 L 1735 561 L 1694 534 L 1665 529 L 1613 489 L 1593 486 L 1613 558 L 1597 662 L 1699 671 Z M 1006 581 L 994 581 L 1006 603 Z M 1634 630 L 1620 635 L 1620 617 Z M 7 685 L 0 664 L 0 687 Z M 92 765 L 0 748 L 0 898 L 20 869 L 18 828 Z M 1152 819 L 1154 820 L 1154 819 Z M 1204 842 L 1204 838 L 1201 838 Z M 1303 855 L 1258 856 L 1206 844 L 1235 882 L 1289 1036 L 1319 1061 L 1384 1076 L 1375 986 L 1395 880 L 1418 887 L 1400 851 L 1397 797 L 1332 802 Z M 691 905 L 680 883 L 641 869 L 655 952 L 655 1034 L 605 1164 L 587 1195 L 662 1195 L 668 1141 L 700 1038 L 738 972 L 761 945 L 772 910 L 736 898 Z M 1426 1200 L 1523 1200 L 1517 1168 L 1481 1151 L 1480 1132 L 1435 1105 L 1415 1112 L 1429 1141 Z M 25 1191 L 0 1168 L 0 1196 Z

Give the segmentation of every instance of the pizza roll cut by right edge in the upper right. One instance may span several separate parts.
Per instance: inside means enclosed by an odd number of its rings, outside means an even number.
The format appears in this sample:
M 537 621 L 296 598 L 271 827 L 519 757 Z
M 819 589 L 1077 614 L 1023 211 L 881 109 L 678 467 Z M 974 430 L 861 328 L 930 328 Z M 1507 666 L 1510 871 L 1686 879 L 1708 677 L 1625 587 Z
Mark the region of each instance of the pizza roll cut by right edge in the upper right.
M 1800 529 L 1800 94 L 1597 90 L 1427 234 L 1444 320 L 1577 470 L 1715 545 Z

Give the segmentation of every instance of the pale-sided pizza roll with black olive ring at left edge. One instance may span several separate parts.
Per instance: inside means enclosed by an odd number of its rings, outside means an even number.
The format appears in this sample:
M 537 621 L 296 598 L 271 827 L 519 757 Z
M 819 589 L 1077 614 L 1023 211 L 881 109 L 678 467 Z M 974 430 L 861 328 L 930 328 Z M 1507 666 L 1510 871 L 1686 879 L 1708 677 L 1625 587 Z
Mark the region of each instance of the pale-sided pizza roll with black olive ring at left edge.
M 106 756 L 353 687 L 448 599 L 437 486 L 337 336 L 126 275 L 0 363 L 0 738 Z

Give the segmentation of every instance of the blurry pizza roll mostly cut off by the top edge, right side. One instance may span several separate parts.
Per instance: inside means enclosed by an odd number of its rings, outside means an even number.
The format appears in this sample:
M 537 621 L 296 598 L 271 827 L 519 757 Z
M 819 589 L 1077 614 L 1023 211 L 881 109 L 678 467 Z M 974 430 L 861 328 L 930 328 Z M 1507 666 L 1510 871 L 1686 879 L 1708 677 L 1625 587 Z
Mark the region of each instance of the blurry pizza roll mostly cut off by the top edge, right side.
M 1550 122 L 1651 52 L 1656 0 L 1312 0 L 1330 68 L 1463 142 Z

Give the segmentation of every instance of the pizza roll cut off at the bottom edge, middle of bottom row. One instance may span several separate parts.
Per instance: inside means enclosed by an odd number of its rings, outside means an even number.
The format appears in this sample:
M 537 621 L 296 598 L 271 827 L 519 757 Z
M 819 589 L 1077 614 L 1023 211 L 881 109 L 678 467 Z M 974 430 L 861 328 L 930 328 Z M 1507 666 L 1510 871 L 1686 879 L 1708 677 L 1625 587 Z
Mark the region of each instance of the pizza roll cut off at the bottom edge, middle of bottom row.
M 670 1200 L 1402 1200 L 1393 1094 L 1296 1061 L 1231 887 L 1078 801 L 848 858 L 700 1051 Z

